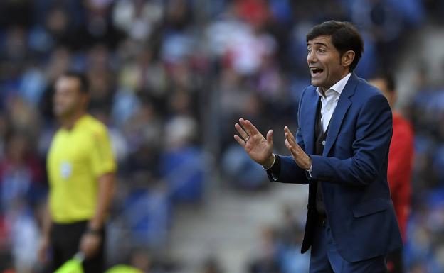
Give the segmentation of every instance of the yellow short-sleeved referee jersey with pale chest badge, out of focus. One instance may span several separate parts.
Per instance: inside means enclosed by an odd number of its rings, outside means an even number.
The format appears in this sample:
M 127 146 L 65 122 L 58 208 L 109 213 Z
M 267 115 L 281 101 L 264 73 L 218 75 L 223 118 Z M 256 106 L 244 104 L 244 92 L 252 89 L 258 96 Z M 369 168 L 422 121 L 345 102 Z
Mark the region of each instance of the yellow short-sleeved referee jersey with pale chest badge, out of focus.
M 84 115 L 71 130 L 60 128 L 47 160 L 53 221 L 73 223 L 93 218 L 98 178 L 116 168 L 107 128 L 100 121 Z

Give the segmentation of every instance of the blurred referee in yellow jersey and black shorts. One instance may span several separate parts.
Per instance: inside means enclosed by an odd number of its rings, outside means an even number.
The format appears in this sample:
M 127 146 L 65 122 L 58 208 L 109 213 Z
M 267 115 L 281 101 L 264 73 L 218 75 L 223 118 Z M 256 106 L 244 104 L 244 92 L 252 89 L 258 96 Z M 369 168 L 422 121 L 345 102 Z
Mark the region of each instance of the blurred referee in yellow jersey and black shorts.
M 61 128 L 48 152 L 50 190 L 38 256 L 53 272 L 83 252 L 85 273 L 100 273 L 117 166 L 107 128 L 87 113 L 85 75 L 66 72 L 55 89 L 53 110 Z

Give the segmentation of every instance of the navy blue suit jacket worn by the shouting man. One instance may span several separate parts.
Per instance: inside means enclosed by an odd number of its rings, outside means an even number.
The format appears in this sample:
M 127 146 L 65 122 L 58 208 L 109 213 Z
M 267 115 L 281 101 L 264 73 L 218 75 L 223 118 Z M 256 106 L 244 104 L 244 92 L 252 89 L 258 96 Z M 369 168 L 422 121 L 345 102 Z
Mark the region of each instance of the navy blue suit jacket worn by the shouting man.
M 297 143 L 312 158 L 312 177 L 292 157 L 280 156 L 278 182 L 309 184 L 309 204 L 302 253 L 312 243 L 317 218 L 316 182 L 338 252 L 349 262 L 386 255 L 402 246 L 387 182 L 391 109 L 385 97 L 351 74 L 329 123 L 322 156 L 314 154 L 314 123 L 319 100 L 307 87 L 298 110 Z M 268 173 L 271 180 L 270 172 Z

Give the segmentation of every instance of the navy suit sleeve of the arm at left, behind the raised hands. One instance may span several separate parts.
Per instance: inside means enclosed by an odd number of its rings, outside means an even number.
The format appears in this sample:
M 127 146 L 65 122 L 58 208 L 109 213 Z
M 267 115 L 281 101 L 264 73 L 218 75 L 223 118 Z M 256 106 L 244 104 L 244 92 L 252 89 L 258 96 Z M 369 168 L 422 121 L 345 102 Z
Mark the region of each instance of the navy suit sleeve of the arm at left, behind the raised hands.
M 302 100 L 305 94 L 304 89 L 302 91 L 302 95 L 299 101 L 299 106 L 297 108 L 297 132 L 296 132 L 296 141 L 297 144 L 300 145 L 302 150 L 305 150 L 304 140 L 302 139 L 302 130 L 300 127 L 300 108 L 302 105 Z M 267 171 L 268 178 L 270 181 L 282 182 L 282 183 L 295 183 L 295 184 L 307 184 L 307 174 L 304 169 L 301 169 L 297 166 L 295 160 L 292 156 L 282 156 L 276 155 L 278 157 L 278 166 L 273 167 Z

